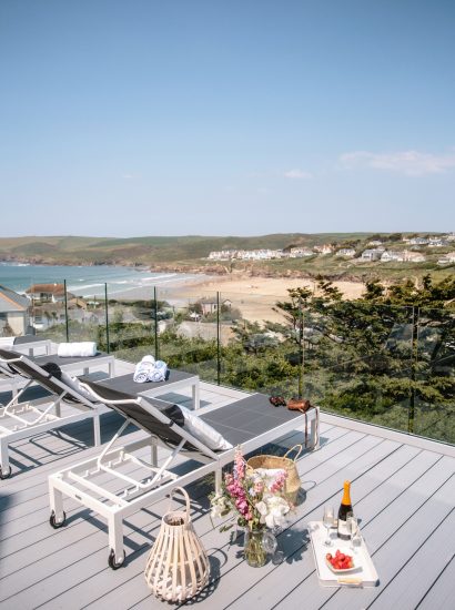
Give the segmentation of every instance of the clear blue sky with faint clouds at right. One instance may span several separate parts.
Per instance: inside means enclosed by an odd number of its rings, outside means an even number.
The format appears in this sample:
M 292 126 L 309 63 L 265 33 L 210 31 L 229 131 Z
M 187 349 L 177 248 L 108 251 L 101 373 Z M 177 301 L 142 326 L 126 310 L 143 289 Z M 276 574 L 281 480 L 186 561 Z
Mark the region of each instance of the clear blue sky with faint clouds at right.
M 0 235 L 455 230 L 453 0 L 1 0 Z

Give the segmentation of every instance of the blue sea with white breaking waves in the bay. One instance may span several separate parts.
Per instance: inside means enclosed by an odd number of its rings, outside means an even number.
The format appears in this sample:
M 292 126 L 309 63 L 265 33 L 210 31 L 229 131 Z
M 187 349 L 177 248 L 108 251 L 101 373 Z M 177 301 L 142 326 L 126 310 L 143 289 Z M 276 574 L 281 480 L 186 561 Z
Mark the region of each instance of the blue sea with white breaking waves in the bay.
M 206 276 L 209 277 L 209 276 Z M 200 274 L 152 273 L 150 271 L 109 265 L 57 266 L 28 265 L 24 263 L 0 263 L 0 285 L 23 294 L 33 284 L 62 284 L 77 296 L 103 296 L 108 284 L 110 298 L 153 298 L 153 287 L 179 288 L 194 279 L 203 279 Z M 130 295 L 130 296 L 129 296 Z

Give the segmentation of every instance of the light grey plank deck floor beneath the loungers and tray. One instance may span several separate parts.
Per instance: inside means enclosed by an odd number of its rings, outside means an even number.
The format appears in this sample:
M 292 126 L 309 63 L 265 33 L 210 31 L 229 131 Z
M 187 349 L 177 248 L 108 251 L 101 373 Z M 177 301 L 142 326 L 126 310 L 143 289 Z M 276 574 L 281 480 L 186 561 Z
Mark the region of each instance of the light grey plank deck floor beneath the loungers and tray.
M 201 384 L 202 405 L 240 397 Z M 174 396 L 185 400 L 183 396 Z M 188 397 L 190 400 L 190 397 Z M 115 415 L 102 417 L 103 438 L 118 427 Z M 142 433 L 132 433 L 140 435 Z M 277 445 L 291 447 L 301 435 Z M 158 501 L 125 523 L 128 561 L 108 568 L 105 525 L 97 515 L 65 500 L 67 525 L 48 522 L 47 477 L 60 467 L 93 455 L 89 423 L 18 443 L 11 479 L 0 481 L 0 608 L 115 610 L 166 608 L 151 597 L 143 569 L 168 501 Z M 189 467 L 182 462 L 182 468 Z M 198 607 L 221 609 L 453 608 L 455 596 L 455 451 L 405 435 L 323 415 L 321 448 L 299 460 L 304 501 L 279 537 L 285 561 L 250 568 L 242 538 L 212 528 L 209 481 L 191 486 L 192 518 L 210 555 L 212 580 Z M 340 502 L 351 479 L 355 510 L 380 575 L 374 589 L 318 584 L 306 523 L 321 519 L 325 504 Z

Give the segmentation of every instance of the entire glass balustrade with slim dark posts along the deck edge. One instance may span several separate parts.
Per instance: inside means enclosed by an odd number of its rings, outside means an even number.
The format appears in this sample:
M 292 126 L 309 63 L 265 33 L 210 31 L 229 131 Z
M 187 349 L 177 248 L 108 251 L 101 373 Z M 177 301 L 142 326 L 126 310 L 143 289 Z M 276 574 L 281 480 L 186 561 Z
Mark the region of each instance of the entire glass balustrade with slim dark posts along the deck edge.
M 0 316 L 0 336 L 94 340 L 131 363 L 151 354 L 203 382 L 455 443 L 454 311 L 279 299 L 253 282 L 247 294 L 151 287 L 141 299 L 109 284 L 90 297 L 64 291 L 64 278 L 49 286 L 28 292 L 22 321 Z

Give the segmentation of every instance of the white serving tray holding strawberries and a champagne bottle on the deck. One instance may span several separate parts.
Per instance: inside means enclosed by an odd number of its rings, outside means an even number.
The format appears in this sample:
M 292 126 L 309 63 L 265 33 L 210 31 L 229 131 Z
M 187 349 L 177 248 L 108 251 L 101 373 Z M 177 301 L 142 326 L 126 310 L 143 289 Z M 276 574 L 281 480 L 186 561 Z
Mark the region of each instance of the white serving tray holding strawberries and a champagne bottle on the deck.
M 317 578 L 323 587 L 376 587 L 380 583 L 376 568 L 374 567 L 363 538 L 362 543 L 356 548 L 356 551 L 353 552 L 348 548 L 348 542 L 340 540 L 336 537 L 336 530 L 334 529 L 331 530 L 333 546 L 326 547 L 324 540 L 326 539 L 327 530 L 322 525 L 322 521 L 310 521 L 309 533 L 313 548 Z M 356 569 L 348 570 L 346 575 L 334 573 L 327 566 L 325 556 L 327 552 L 335 555 L 336 549 L 340 549 L 342 552 L 346 551 L 351 555 L 354 558 L 354 566 Z

